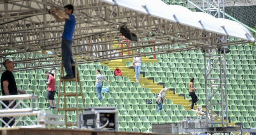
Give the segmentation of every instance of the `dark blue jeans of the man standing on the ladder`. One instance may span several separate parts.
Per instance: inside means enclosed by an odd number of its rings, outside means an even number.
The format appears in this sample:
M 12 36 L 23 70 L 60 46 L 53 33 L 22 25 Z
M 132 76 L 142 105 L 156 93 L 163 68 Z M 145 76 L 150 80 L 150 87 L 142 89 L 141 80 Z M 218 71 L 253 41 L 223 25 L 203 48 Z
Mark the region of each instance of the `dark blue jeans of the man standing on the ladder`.
M 71 63 L 74 63 L 72 58 L 71 40 L 62 39 L 61 40 L 61 51 L 62 51 L 62 64 L 66 70 L 67 76 L 75 75 L 74 68 L 72 68 Z

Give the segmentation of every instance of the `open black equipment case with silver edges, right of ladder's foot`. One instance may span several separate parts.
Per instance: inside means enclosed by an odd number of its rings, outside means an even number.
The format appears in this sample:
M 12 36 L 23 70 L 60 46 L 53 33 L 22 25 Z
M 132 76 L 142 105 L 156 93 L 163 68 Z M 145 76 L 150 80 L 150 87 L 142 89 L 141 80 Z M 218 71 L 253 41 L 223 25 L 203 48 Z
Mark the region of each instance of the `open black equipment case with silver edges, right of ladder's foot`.
M 115 107 L 85 108 L 79 115 L 78 127 L 118 131 L 118 111 Z

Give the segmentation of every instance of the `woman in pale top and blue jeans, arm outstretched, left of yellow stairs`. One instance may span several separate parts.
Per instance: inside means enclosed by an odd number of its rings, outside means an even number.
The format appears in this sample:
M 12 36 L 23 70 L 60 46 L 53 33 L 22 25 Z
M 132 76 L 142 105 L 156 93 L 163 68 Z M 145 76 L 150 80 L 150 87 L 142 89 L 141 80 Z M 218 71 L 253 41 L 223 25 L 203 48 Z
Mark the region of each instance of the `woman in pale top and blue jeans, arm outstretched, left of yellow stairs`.
M 100 69 L 97 69 L 97 70 L 96 70 L 96 74 L 97 74 L 97 77 L 96 77 L 96 90 L 97 90 L 98 98 L 99 98 L 99 100 L 100 100 L 100 99 L 102 99 L 102 96 L 101 96 L 102 80 L 104 79 L 105 81 L 109 82 L 109 84 L 111 84 L 111 82 L 108 81 L 108 80 L 105 78 L 105 76 L 100 73 Z

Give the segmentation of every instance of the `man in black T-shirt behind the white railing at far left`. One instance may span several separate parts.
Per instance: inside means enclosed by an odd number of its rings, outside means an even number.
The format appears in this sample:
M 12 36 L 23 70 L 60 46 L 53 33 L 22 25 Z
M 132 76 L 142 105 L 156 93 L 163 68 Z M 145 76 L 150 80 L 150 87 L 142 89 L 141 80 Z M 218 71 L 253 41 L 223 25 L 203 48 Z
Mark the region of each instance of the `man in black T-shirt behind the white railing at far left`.
M 17 87 L 16 87 L 16 81 L 14 78 L 14 75 L 12 74 L 12 71 L 14 70 L 14 62 L 10 61 L 9 59 L 6 59 L 3 62 L 3 66 L 5 66 L 6 71 L 3 72 L 2 76 L 1 76 L 1 89 L 2 89 L 2 95 L 17 95 L 18 91 L 17 91 Z M 5 105 L 9 105 L 9 103 L 11 103 L 12 100 L 5 100 L 3 101 L 3 103 L 5 103 Z M 16 105 L 16 101 L 10 105 L 9 107 L 12 108 L 14 105 Z M 5 108 L 5 106 L 2 105 L 2 108 Z M 11 118 L 10 117 L 3 117 L 3 121 L 8 123 L 9 120 Z M 9 123 L 9 126 L 14 125 L 14 120 Z M 2 123 L 2 127 L 4 127 L 5 124 Z

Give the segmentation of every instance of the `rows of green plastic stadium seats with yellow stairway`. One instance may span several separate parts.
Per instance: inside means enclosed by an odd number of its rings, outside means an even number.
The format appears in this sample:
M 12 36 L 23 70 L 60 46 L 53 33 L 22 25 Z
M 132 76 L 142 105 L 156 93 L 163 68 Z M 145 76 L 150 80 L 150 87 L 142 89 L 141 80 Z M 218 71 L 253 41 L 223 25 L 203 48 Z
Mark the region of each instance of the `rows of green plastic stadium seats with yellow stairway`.
M 163 0 L 166 4 L 176 4 L 189 8 L 182 0 Z M 195 12 L 194 8 L 189 8 Z M 143 38 L 141 40 L 150 40 Z M 229 37 L 229 40 L 236 40 Z M 143 43 L 147 44 L 147 43 Z M 113 46 L 115 48 L 115 46 Z M 176 45 L 178 47 L 178 45 Z M 156 50 L 160 48 L 156 47 Z M 249 44 L 239 44 L 230 46 L 230 53 L 226 55 L 227 59 L 227 90 L 228 90 L 228 115 L 231 123 L 243 123 L 244 128 L 256 127 L 256 47 Z M 140 49 L 140 52 L 150 52 L 151 47 Z M 33 53 L 29 53 L 29 57 Z M 34 52 L 37 57 L 42 54 Z M 124 52 L 127 54 L 127 52 Z M 24 57 L 20 53 L 19 57 Z M 9 56 L 14 59 L 14 56 Z M 82 105 L 85 100 L 86 107 L 94 106 L 116 106 L 118 109 L 119 131 L 126 132 L 147 132 L 151 131 L 152 123 L 170 123 L 182 120 L 184 116 L 194 116 L 195 112 L 190 111 L 190 96 L 188 95 L 188 83 L 191 77 L 195 78 L 195 87 L 198 87 L 197 96 L 199 101 L 197 105 L 205 106 L 205 85 L 204 85 L 204 56 L 200 50 L 187 52 L 174 52 L 157 55 L 156 60 L 152 56 L 142 58 L 141 82 L 135 81 L 135 73 L 132 68 L 133 59 L 124 59 L 123 61 L 111 61 L 111 63 L 94 62 L 79 65 L 82 92 L 85 99 L 78 99 Z M 24 67 L 23 64 L 17 64 L 18 68 Z M 115 68 L 121 69 L 123 76 L 114 76 Z M 59 75 L 59 67 L 56 67 Z M 96 73 L 95 69 L 100 69 L 101 73 L 106 75 L 111 84 L 104 82 L 104 87 L 109 86 L 111 93 L 102 93 L 103 99 L 98 100 L 95 89 Z M 39 108 L 48 110 L 49 104 L 46 98 L 46 77 L 45 71 L 50 69 L 36 69 L 29 71 L 19 71 L 14 73 L 17 88 L 24 89 L 28 93 L 33 93 L 39 97 Z M 213 71 L 213 77 L 219 73 Z M 1 76 L 1 74 L 0 74 Z M 59 77 L 56 77 L 57 91 Z M 63 86 L 63 84 L 61 84 Z M 68 91 L 75 90 L 75 82 L 66 83 Z M 171 90 L 166 94 L 168 106 L 163 105 L 163 110 L 157 113 L 157 104 L 155 94 L 168 87 Z M 57 95 L 55 95 L 57 99 Z M 69 98 L 67 104 L 72 106 L 75 98 Z M 152 104 L 146 104 L 149 99 Z M 218 102 L 219 97 L 215 97 L 213 102 Z M 57 100 L 56 100 L 57 101 Z M 30 101 L 26 100 L 26 105 Z M 62 98 L 60 106 L 63 105 Z M 21 106 L 23 107 L 23 105 Z M 170 108 L 170 110 L 168 109 Z M 220 111 L 219 105 L 214 106 L 214 111 Z M 56 114 L 56 110 L 51 110 Z M 59 112 L 64 114 L 63 111 Z M 76 120 L 74 112 L 69 112 L 68 119 Z M 36 122 L 36 117 L 31 116 Z M 25 120 L 28 122 L 27 120 Z M 29 122 L 28 122 L 29 124 Z M 30 123 L 31 124 L 31 123 Z

